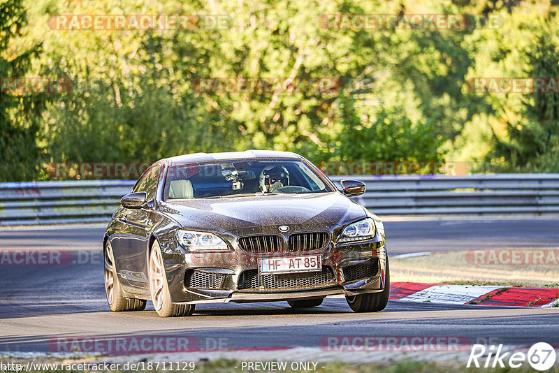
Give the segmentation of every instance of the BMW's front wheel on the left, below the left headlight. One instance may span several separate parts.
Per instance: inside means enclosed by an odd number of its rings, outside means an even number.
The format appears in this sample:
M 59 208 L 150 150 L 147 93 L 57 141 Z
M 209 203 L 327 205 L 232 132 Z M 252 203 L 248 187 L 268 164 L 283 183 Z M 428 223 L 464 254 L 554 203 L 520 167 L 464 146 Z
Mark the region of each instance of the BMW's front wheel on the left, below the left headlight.
M 195 305 L 175 305 L 171 302 L 161 247 L 157 240 L 150 253 L 150 293 L 153 307 L 161 317 L 190 316 L 194 313 Z

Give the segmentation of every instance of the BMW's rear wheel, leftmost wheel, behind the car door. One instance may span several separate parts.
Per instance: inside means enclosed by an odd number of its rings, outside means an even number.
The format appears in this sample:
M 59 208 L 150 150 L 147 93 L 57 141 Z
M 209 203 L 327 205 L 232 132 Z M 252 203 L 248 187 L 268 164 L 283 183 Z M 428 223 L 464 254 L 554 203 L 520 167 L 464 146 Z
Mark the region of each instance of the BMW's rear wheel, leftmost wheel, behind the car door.
M 105 293 L 107 302 L 112 312 L 143 311 L 147 300 L 126 298 L 115 268 L 115 254 L 112 253 L 110 240 L 107 240 L 103 249 L 105 262 Z

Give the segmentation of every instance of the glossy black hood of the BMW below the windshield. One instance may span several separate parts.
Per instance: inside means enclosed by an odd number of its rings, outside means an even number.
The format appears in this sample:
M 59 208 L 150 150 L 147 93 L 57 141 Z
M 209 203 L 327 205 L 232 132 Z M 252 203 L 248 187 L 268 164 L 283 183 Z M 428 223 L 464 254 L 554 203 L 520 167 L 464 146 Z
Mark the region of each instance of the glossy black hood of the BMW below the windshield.
M 184 228 L 223 233 L 289 226 L 291 231 L 331 231 L 366 217 L 361 205 L 339 192 L 172 200 L 161 212 Z

